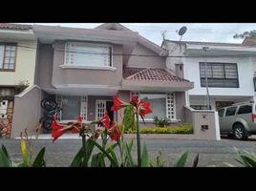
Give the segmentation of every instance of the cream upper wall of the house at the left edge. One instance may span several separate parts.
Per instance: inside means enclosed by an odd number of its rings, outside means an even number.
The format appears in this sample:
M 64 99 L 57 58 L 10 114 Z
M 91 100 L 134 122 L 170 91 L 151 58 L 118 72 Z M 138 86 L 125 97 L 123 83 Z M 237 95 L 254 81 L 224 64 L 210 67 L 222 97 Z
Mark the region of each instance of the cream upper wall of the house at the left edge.
M 15 72 L 0 72 L 0 86 L 14 86 L 19 81 L 24 80 L 28 80 L 30 86 L 32 86 L 34 83 L 37 42 L 22 40 L 10 42 L 17 43 Z

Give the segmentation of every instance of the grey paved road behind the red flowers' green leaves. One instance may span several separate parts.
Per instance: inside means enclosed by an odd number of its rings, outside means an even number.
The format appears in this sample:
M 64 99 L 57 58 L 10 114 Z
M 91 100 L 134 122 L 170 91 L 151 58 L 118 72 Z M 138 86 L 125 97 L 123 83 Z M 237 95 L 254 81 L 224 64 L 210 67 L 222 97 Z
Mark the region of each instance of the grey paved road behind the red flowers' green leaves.
M 184 150 L 189 151 L 187 166 L 191 166 L 193 159 L 199 153 L 199 166 L 225 166 L 224 162 L 236 164 L 233 147 L 256 152 L 256 138 L 246 141 L 223 138 L 220 141 L 209 140 L 181 140 L 181 139 L 143 139 L 151 156 L 161 151 L 166 164 L 171 166 L 174 159 Z M 0 138 L 0 144 L 5 144 L 13 159 L 21 159 L 18 139 Z M 59 139 L 52 143 L 50 139 L 32 140 L 34 152 L 45 146 L 47 166 L 69 166 L 77 149 L 81 146 L 81 139 Z M 136 150 L 134 151 L 136 156 Z

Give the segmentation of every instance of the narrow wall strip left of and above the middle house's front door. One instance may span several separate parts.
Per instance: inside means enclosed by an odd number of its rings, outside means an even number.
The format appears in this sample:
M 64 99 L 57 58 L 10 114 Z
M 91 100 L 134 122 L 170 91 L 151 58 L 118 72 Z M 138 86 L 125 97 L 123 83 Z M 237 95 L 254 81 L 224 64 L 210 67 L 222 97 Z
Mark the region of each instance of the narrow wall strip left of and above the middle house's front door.
M 88 96 L 88 118 L 92 121 L 96 119 L 96 99 L 113 100 L 112 96 Z

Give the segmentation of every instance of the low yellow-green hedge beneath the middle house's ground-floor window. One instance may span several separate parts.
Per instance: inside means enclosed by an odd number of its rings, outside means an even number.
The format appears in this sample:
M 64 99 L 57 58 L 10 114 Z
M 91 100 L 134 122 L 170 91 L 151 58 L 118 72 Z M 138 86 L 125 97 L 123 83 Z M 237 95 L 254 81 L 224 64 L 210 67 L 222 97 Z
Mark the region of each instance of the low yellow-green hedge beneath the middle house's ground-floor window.
M 134 134 L 135 131 L 125 131 L 126 134 Z M 184 123 L 180 126 L 173 127 L 143 127 L 140 129 L 141 134 L 193 134 L 191 124 Z

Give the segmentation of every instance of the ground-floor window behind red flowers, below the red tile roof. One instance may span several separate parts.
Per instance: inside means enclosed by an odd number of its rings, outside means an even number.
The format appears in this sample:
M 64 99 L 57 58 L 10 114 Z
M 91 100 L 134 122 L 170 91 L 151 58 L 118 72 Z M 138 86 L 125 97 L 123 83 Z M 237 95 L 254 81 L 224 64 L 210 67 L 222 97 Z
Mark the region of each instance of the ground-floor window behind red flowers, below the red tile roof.
M 139 99 L 145 99 L 150 102 L 150 108 L 153 113 L 146 115 L 146 119 L 154 117 L 166 117 L 166 94 L 139 94 Z

